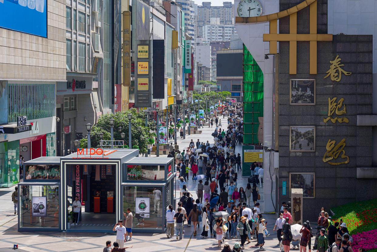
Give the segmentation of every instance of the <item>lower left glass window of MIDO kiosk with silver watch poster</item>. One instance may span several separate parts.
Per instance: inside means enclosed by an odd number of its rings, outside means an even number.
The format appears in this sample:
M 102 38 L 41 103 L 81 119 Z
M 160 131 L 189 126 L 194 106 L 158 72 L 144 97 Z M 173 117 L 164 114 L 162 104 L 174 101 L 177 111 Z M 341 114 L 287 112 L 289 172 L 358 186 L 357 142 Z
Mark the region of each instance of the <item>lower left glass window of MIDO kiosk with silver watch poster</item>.
M 59 187 L 20 186 L 20 227 L 59 227 Z

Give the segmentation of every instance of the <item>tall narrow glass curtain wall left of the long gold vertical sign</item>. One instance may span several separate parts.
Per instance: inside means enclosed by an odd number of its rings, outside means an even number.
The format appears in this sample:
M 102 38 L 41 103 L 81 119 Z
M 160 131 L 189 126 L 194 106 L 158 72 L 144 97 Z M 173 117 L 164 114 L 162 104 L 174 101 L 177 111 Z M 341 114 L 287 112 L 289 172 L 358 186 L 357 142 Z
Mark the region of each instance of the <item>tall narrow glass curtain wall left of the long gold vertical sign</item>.
M 103 108 L 111 108 L 110 0 L 103 1 Z

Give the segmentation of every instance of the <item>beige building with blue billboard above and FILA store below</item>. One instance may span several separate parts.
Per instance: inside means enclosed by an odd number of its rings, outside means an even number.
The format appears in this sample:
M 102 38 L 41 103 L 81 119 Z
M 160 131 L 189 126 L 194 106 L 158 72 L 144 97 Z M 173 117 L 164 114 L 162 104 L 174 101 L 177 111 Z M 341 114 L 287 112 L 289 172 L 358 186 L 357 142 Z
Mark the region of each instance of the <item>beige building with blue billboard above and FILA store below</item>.
M 4 1 L 0 9 L 6 20 L 0 24 L 0 187 L 9 187 L 23 179 L 20 155 L 25 161 L 56 155 L 56 87 L 66 81 L 66 5 Z

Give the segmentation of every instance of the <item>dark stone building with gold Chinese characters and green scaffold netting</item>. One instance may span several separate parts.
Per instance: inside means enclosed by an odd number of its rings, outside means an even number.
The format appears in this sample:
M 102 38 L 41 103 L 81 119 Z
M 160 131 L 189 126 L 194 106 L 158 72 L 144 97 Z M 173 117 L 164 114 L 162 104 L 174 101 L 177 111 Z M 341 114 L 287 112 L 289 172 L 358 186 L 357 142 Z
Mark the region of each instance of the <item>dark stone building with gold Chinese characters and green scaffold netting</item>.
M 282 201 L 292 199 L 292 189 L 302 189 L 303 200 L 292 201 L 292 209 L 302 211 L 304 220 L 316 218 L 319 205 L 376 198 L 375 190 L 365 190 L 377 179 L 374 8 L 348 0 L 260 2 L 258 19 L 272 14 L 268 22 L 248 17 L 245 25 L 236 17 L 236 29 L 245 44 L 244 123 L 252 129 L 245 132 L 244 146 L 268 147 L 264 212 L 277 212 Z M 277 22 L 274 13 L 290 7 Z M 309 43 L 280 34 L 321 36 Z

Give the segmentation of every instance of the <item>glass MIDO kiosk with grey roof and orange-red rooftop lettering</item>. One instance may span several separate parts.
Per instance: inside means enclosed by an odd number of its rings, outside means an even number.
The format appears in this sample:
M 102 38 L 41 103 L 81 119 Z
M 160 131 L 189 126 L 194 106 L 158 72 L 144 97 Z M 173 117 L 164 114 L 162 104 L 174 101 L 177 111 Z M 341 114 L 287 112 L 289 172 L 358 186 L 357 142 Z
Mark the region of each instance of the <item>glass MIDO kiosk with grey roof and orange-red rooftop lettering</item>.
M 89 155 L 88 149 L 88 154 L 24 163 L 18 231 L 113 232 L 130 207 L 136 215 L 133 232 L 165 232 L 165 212 L 173 203 L 173 158 L 138 157 L 137 149 L 98 150 L 101 155 Z M 82 205 L 77 226 L 68 224 L 75 196 Z M 144 225 L 136 226 L 138 218 Z

